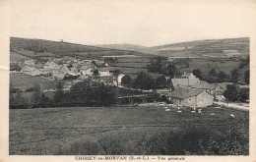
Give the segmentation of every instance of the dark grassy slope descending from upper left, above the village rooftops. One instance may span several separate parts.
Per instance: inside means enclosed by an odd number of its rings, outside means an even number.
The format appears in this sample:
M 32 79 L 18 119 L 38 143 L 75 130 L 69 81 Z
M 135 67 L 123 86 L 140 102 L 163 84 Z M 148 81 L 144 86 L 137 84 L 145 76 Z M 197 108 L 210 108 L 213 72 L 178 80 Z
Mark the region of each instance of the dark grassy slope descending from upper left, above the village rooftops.
M 17 38 L 11 37 L 11 47 L 16 50 L 21 51 L 24 50 L 32 50 L 36 49 L 45 49 L 49 55 L 54 54 L 56 57 L 61 56 L 75 56 L 77 57 L 95 57 L 99 58 L 104 55 L 144 55 L 139 52 L 127 51 L 127 50 L 117 50 L 117 49 L 108 49 L 108 48 L 100 48 L 95 46 L 88 46 L 82 44 L 68 43 L 68 42 L 57 42 L 50 40 L 42 40 L 42 39 L 26 39 L 26 38 Z M 35 57 L 34 53 L 25 53 L 30 57 Z

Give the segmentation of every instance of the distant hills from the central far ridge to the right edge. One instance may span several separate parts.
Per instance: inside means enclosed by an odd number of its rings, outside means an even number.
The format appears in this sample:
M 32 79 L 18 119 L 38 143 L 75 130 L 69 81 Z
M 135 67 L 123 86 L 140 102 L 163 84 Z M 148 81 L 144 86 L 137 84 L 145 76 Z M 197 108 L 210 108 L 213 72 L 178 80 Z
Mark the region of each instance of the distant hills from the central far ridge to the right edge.
M 101 44 L 105 48 L 133 50 L 166 57 L 217 57 L 226 58 L 233 55 L 249 55 L 249 38 L 208 39 L 144 47 L 134 44 Z

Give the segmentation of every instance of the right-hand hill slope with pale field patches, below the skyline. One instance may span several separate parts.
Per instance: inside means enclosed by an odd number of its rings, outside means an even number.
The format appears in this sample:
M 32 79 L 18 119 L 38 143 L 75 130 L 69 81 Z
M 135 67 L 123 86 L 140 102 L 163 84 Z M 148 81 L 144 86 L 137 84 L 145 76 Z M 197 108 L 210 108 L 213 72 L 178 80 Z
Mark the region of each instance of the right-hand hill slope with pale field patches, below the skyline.
M 161 56 L 216 56 L 225 57 L 223 50 L 237 50 L 241 56 L 249 55 L 249 38 L 227 38 L 227 39 L 209 39 L 188 41 L 173 44 L 145 48 L 145 51 L 151 54 Z M 187 50 L 175 51 L 173 48 L 188 47 Z M 169 49 L 168 49 L 169 48 Z M 161 50 L 165 49 L 165 50 Z M 204 56 L 206 55 L 206 56 Z

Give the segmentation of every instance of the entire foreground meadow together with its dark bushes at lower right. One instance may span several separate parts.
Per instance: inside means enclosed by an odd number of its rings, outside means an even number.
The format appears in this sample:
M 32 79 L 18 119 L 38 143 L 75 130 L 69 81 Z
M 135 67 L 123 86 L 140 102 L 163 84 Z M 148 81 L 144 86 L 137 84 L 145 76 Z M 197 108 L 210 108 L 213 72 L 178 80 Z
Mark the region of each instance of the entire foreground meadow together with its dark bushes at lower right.
M 10 110 L 10 154 L 247 155 L 248 112 L 160 107 Z M 210 113 L 215 113 L 211 117 Z M 234 119 L 229 114 L 235 115 Z

